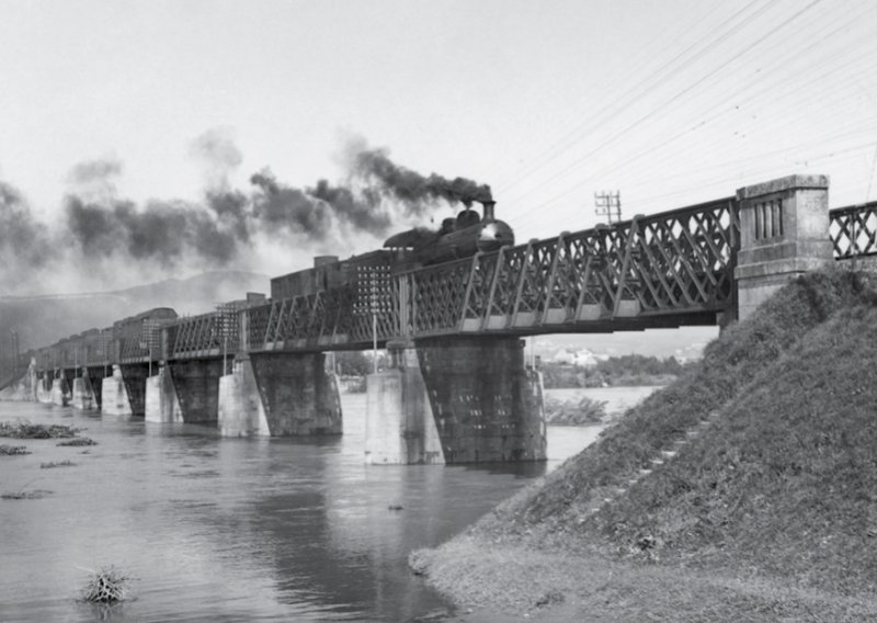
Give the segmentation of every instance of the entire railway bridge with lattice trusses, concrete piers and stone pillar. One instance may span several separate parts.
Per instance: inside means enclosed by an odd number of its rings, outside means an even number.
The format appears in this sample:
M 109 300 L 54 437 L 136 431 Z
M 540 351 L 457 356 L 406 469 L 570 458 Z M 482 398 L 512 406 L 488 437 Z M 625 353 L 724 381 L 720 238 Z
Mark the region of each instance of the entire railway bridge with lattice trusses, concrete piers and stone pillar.
M 877 202 L 829 209 L 828 178 L 734 195 L 194 317 L 157 309 L 32 353 L 34 396 L 225 435 L 339 434 L 324 353 L 387 348 L 368 377 L 366 461 L 545 458 L 542 382 L 521 338 L 745 318 L 789 279 L 877 256 Z M 287 293 L 288 294 L 288 293 Z

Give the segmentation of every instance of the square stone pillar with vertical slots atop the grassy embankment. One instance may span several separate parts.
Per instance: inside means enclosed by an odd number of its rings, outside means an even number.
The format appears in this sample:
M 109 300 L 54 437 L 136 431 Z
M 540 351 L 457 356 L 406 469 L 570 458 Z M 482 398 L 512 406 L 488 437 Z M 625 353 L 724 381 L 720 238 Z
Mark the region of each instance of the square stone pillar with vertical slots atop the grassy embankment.
M 790 279 L 833 263 L 828 189 L 825 175 L 789 175 L 737 191 L 740 320 Z

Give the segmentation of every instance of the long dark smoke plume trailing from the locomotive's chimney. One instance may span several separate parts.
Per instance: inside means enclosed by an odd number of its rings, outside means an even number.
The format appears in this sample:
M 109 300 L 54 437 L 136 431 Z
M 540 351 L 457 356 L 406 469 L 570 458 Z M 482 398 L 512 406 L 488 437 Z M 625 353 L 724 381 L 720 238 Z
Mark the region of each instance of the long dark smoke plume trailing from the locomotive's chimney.
M 0 258 L 7 267 L 31 272 L 57 260 L 55 265 L 73 267 L 94 279 L 115 275 L 119 267 L 149 277 L 157 276 L 150 271 L 172 274 L 181 267 L 243 268 L 265 241 L 285 246 L 292 240 L 292 248 L 310 254 L 343 254 L 338 251 L 350 249 L 363 235 L 378 247 L 394 226 L 405 227 L 400 220 L 422 218 L 443 205 L 469 206 L 490 199 L 487 185 L 421 175 L 362 139 L 346 146 L 343 182 L 321 179 L 304 188 L 278 181 L 267 168 L 252 174 L 248 188 L 234 188 L 243 156 L 225 129 L 196 137 L 190 155 L 206 173 L 198 202 L 138 205 L 117 192 L 123 172 L 117 158 L 75 165 L 57 227 L 38 223 L 21 193 L 0 182 Z M 0 286 L 16 286 L 15 274 L 21 271 L 3 271 Z

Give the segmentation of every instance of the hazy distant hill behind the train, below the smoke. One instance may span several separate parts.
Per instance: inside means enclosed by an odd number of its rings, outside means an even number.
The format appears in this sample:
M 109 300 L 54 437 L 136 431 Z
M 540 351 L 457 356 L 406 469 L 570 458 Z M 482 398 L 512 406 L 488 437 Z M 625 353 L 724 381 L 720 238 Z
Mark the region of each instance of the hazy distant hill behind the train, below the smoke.
M 116 292 L 0 297 L 0 359 L 16 331 L 22 351 L 53 343 L 152 307 L 178 314 L 203 314 L 217 303 L 270 292 L 270 277 L 243 271 L 212 271 L 184 280 L 169 279 Z

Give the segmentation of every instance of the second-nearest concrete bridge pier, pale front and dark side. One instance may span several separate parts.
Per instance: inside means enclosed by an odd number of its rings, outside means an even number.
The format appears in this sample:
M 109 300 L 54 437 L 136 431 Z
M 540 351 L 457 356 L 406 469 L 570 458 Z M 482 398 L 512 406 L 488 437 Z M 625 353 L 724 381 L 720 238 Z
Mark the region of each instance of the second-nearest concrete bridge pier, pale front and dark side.
M 271 437 L 341 434 L 338 381 L 323 353 L 250 353 L 230 376 L 224 434 L 265 434 L 265 427 Z

